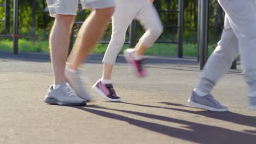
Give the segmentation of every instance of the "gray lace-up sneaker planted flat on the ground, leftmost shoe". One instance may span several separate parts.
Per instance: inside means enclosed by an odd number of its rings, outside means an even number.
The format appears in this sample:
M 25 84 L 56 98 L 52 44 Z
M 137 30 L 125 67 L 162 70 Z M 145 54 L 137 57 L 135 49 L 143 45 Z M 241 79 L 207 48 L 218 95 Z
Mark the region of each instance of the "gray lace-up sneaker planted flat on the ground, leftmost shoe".
M 86 101 L 77 97 L 68 83 L 62 83 L 58 89 L 50 86 L 44 102 L 52 105 L 86 105 Z

